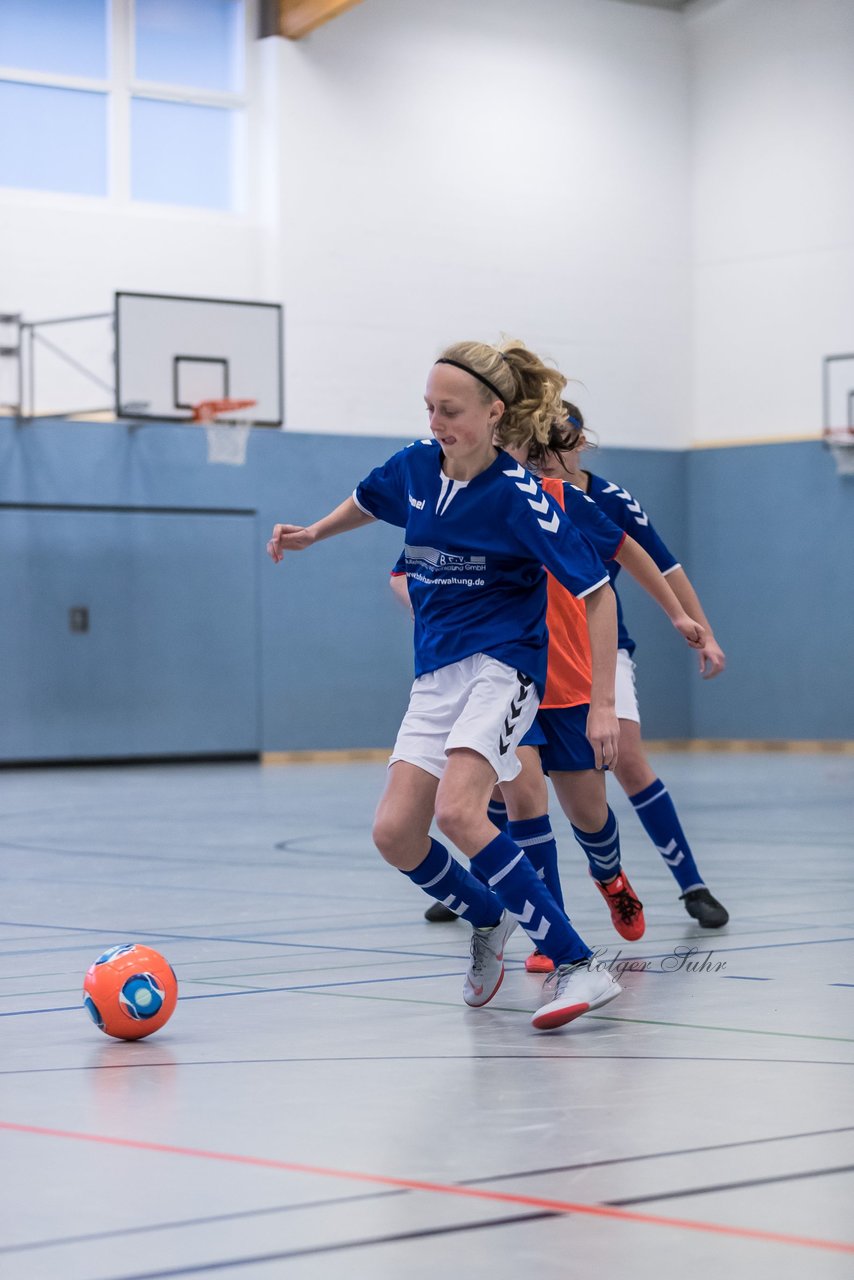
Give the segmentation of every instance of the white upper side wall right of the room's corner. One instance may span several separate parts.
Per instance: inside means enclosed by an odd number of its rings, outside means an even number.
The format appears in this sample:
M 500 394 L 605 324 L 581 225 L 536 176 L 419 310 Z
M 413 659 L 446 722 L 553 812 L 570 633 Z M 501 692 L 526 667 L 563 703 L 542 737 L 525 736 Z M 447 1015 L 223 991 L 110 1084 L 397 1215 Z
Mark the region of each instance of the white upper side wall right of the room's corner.
M 688 10 L 699 440 L 821 430 L 854 340 L 854 4 Z

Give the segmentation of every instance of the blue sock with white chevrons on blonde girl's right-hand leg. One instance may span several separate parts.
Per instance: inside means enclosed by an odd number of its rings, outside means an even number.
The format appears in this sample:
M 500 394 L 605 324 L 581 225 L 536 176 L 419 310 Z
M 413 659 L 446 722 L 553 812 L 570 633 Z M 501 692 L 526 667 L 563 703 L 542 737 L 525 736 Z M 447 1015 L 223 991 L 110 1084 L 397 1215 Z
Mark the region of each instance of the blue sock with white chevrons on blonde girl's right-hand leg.
M 474 861 L 487 873 L 502 906 L 516 916 L 538 951 L 556 965 L 586 960 L 590 948 L 510 836 L 503 832 L 495 836 Z

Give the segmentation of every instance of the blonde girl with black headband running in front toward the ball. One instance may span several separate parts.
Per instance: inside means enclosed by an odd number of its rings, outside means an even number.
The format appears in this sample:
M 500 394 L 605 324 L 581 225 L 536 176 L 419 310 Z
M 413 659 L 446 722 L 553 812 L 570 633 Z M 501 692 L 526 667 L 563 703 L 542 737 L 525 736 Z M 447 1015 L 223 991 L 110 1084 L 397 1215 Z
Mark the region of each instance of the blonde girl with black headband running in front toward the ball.
M 383 858 L 472 925 L 463 1000 L 478 1007 L 503 979 L 521 924 L 554 964 L 531 1021 L 552 1029 L 620 993 L 517 845 L 487 817 L 495 782 L 519 772 L 516 746 L 545 681 L 545 566 L 585 600 L 593 663 L 613 687 L 616 605 L 586 539 L 524 467 L 497 447 L 545 443 L 562 419 L 565 379 L 522 344 L 457 343 L 433 365 L 433 439 L 375 468 L 309 527 L 275 525 L 274 562 L 379 518 L 406 529 L 416 680 L 374 822 Z M 698 630 L 697 640 L 700 640 Z M 599 765 L 617 759 L 613 704 L 588 726 Z M 429 835 L 439 831 L 485 883 Z

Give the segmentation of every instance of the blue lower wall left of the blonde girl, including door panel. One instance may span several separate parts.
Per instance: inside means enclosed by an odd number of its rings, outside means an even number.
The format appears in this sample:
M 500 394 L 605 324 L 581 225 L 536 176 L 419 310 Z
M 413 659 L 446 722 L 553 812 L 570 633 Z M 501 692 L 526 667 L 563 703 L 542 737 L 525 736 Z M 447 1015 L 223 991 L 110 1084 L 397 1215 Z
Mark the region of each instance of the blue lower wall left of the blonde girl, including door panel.
M 228 467 L 197 428 L 0 424 L 0 759 L 388 746 L 411 682 L 399 534 L 279 566 L 264 547 L 394 447 L 259 430 Z

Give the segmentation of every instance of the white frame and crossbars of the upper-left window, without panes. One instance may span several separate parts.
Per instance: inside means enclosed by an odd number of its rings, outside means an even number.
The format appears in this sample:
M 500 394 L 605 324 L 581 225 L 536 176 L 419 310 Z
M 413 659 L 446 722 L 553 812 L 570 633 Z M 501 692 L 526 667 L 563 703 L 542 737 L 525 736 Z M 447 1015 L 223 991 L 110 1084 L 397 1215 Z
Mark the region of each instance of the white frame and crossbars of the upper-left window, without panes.
M 22 67 L 0 65 L 0 81 L 36 84 L 47 88 L 83 90 L 106 97 L 106 196 L 78 196 L 65 191 L 42 191 L 33 187 L 4 187 L 0 201 L 5 204 L 38 204 L 50 207 L 99 207 L 145 211 L 152 216 L 187 216 L 210 219 L 245 219 L 251 206 L 248 140 L 256 124 L 257 101 L 251 92 L 250 51 L 257 23 L 257 0 L 243 0 L 243 92 L 189 88 L 183 84 L 160 84 L 134 77 L 134 0 L 108 0 L 108 68 L 106 79 L 87 76 L 63 76 L 33 72 Z M 172 205 L 131 198 L 131 100 L 154 99 L 161 102 L 186 102 L 192 106 L 227 108 L 234 118 L 234 154 L 229 186 L 230 210 L 205 209 L 196 205 Z

